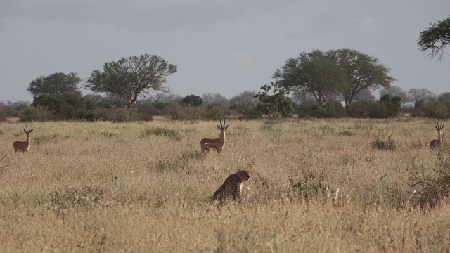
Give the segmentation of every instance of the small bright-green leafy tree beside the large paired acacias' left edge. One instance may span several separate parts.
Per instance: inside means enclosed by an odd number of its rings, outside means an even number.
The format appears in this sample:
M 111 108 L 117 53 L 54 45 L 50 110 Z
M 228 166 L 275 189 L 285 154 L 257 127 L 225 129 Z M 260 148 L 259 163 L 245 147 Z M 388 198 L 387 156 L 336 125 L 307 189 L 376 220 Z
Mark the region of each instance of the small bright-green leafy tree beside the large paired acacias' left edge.
M 271 117 L 276 115 L 290 117 L 293 112 L 293 100 L 287 96 L 289 91 L 286 91 L 279 83 L 274 82 L 261 86 L 261 89 L 262 91 L 255 95 L 255 98 L 259 100 L 256 110 Z M 272 93 L 272 95 L 269 93 Z

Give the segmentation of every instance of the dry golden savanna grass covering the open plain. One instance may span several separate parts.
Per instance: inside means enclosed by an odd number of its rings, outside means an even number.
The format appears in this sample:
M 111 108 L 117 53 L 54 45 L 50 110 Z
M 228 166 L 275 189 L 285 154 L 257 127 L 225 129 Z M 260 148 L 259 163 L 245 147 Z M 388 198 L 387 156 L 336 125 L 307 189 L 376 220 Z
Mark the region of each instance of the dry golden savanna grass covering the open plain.
M 1 123 L 1 251 L 450 251 L 446 199 L 411 195 L 414 173 L 449 164 L 434 121 L 229 119 L 221 155 L 203 156 L 218 123 L 34 122 L 26 154 L 23 123 Z M 238 169 L 242 201 L 212 204 Z

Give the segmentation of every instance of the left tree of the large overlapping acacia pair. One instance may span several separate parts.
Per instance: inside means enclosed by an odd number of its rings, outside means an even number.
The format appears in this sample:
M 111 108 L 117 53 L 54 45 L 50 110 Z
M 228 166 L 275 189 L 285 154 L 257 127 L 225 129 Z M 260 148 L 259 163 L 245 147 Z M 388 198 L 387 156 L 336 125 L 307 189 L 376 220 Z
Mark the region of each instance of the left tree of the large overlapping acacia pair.
M 342 68 L 320 50 L 303 52 L 297 58 L 289 58 L 281 70 L 272 76 L 285 89 L 295 93 L 311 94 L 318 103 L 326 103 L 338 86 L 346 82 Z

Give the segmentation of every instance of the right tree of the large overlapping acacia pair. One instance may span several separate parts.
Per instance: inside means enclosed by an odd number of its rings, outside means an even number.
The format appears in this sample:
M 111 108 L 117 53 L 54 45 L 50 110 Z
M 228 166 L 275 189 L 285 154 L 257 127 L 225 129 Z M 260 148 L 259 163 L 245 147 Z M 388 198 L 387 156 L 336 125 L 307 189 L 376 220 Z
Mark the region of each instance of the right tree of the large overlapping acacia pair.
M 387 87 L 395 80 L 389 75 L 390 69 L 381 64 L 377 58 L 359 51 L 344 48 L 330 50 L 326 54 L 347 74 L 346 82 L 339 86 L 347 109 L 359 91 Z

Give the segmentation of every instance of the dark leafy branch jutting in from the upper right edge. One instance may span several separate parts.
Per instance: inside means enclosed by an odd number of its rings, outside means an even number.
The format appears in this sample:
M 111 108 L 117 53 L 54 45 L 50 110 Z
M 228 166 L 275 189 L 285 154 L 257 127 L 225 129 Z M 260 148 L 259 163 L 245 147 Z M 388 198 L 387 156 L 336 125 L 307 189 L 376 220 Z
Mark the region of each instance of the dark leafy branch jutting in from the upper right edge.
M 450 15 L 449 18 L 430 23 L 430 25 L 426 30 L 420 32 L 417 44 L 420 51 L 431 50 L 431 53 L 427 55 L 431 59 L 437 56 L 437 60 L 442 60 L 444 48 L 450 44 Z

